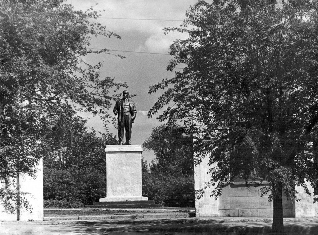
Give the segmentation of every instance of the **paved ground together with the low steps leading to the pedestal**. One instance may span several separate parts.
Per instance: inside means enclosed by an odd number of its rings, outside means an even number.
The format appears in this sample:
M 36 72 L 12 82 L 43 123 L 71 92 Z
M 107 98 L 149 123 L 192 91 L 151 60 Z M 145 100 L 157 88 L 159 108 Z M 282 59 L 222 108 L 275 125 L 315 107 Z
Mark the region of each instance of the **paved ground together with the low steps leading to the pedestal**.
M 180 210 L 114 210 L 113 218 L 102 218 L 107 211 L 91 211 L 86 219 L 67 219 L 76 210 L 49 213 L 59 220 L 1 222 L 2 235 L 100 235 L 100 234 L 270 234 L 272 218 L 244 217 L 181 217 Z M 132 214 L 132 212 L 138 212 Z M 83 211 L 82 211 L 83 212 Z M 191 212 L 191 211 L 188 211 Z M 57 214 L 64 216 L 54 217 Z M 73 213 L 73 214 L 72 214 Z M 94 214 L 98 213 L 98 215 Z M 179 214 L 180 213 L 180 214 Z M 47 213 L 46 213 L 47 214 Z M 68 214 L 68 215 L 67 215 Z M 102 214 L 102 215 L 101 215 Z M 151 215 L 152 214 L 152 215 Z M 52 216 L 53 215 L 53 216 Z M 173 217 L 173 216 L 180 217 Z M 82 214 L 81 216 L 85 216 Z M 162 217 L 164 216 L 164 217 Z M 169 217 L 169 218 L 167 218 Z M 286 234 L 318 234 L 317 218 L 285 218 Z

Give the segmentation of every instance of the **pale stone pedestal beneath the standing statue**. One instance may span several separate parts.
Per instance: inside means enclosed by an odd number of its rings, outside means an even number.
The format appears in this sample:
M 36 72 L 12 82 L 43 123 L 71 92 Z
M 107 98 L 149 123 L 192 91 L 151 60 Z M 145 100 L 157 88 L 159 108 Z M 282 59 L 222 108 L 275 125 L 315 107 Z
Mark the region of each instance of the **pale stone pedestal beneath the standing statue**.
M 147 201 L 142 196 L 141 145 L 107 145 L 107 195 L 100 202 Z

